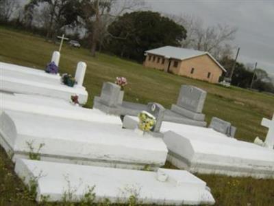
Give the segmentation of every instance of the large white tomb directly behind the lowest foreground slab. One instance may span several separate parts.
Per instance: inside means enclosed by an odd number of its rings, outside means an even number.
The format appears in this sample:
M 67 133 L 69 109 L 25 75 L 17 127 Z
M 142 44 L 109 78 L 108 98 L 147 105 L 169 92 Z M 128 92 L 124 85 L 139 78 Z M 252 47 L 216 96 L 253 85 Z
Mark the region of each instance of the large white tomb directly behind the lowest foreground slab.
M 39 146 L 43 160 L 141 169 L 164 165 L 164 141 L 122 129 L 119 124 L 86 122 L 32 113 L 5 111 L 0 115 L 0 143 L 27 158 Z

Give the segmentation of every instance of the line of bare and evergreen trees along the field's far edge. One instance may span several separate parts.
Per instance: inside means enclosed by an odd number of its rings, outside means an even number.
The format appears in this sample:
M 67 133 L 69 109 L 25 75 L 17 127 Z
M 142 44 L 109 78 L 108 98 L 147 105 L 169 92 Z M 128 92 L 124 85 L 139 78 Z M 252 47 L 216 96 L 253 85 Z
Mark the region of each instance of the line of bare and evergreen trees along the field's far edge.
M 0 0 L 0 23 L 29 30 L 55 41 L 66 34 L 80 41 L 95 56 L 108 52 L 142 62 L 144 52 L 172 45 L 210 52 L 227 69 L 233 65 L 232 45 L 236 27 L 206 26 L 197 16 L 160 14 L 146 9 L 139 0 Z M 144 9 L 145 8 L 145 9 Z M 274 92 L 263 69 L 255 75 L 247 65 L 236 62 L 232 84 L 237 87 Z

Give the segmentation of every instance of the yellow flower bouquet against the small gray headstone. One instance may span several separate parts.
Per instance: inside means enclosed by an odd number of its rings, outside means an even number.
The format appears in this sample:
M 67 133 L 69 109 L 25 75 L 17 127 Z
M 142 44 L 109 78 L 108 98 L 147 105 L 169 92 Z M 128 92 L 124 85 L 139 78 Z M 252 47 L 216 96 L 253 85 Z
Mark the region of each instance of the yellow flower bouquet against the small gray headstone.
M 153 130 L 156 124 L 156 119 L 153 115 L 151 115 L 147 111 L 142 111 L 141 113 L 138 114 L 138 118 L 139 118 L 138 128 L 140 130 L 144 131 L 144 133 Z

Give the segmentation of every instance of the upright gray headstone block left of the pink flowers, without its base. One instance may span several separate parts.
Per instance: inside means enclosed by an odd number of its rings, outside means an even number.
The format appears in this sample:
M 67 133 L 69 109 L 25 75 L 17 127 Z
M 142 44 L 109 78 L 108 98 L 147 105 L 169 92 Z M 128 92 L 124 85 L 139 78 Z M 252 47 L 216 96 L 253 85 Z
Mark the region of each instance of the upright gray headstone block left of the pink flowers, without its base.
M 111 82 L 104 82 L 101 90 L 100 102 L 108 106 L 118 104 L 121 87 Z

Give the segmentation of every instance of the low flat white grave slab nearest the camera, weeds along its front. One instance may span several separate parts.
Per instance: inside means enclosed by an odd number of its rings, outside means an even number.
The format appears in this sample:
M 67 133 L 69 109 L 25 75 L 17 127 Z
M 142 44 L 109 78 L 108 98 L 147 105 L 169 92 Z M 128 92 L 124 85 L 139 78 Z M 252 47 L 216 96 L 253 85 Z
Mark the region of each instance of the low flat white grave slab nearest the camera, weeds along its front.
M 125 203 L 134 195 L 142 204 L 214 204 L 206 183 L 184 170 L 160 169 L 168 175 L 162 182 L 158 181 L 157 172 L 18 159 L 15 172 L 26 185 L 38 179 L 37 201 L 41 201 L 41 196 L 49 196 L 51 202 L 62 201 L 64 192 L 74 190 L 72 201 L 77 202 L 88 186 L 95 186 L 97 202 L 108 198 L 111 203 Z

